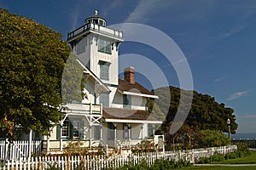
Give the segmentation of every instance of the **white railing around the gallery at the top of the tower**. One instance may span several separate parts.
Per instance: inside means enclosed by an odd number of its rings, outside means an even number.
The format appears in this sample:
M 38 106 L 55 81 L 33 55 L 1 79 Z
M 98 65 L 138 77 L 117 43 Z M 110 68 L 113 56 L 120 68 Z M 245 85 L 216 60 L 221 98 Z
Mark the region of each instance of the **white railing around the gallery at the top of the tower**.
M 86 24 L 79 27 L 75 31 L 71 31 L 67 34 L 67 41 L 72 40 L 74 37 L 79 37 L 80 35 L 90 33 L 91 31 L 96 31 L 107 36 L 117 37 L 118 39 L 123 39 L 123 31 L 117 31 L 108 27 L 99 26 L 93 23 Z

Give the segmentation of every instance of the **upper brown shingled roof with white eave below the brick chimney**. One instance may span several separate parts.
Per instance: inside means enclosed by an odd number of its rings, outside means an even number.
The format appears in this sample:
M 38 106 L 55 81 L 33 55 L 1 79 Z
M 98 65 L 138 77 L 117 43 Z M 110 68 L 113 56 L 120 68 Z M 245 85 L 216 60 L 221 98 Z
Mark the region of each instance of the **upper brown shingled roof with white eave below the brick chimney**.
M 158 96 L 155 96 L 153 92 L 148 91 L 147 88 L 144 88 L 140 83 L 138 82 L 128 82 L 124 79 L 119 79 L 119 92 L 122 94 L 130 94 L 130 95 L 139 95 L 149 98 L 158 98 Z

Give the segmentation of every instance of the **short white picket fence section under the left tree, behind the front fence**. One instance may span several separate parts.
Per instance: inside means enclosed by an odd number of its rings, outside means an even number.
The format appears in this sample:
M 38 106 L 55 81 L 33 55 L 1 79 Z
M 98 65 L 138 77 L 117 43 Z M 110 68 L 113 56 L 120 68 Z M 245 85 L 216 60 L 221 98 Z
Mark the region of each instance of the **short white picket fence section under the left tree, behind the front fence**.
M 0 161 L 1 160 L 23 160 L 28 156 L 39 156 L 41 154 L 41 141 L 18 140 L 9 142 L 0 140 Z

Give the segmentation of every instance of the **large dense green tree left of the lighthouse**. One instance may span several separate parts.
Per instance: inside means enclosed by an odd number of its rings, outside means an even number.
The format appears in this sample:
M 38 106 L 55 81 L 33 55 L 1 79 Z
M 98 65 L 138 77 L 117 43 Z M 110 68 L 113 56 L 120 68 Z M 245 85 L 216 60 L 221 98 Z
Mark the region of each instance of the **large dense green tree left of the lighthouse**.
M 0 120 L 47 134 L 62 118 L 61 75 L 70 48 L 60 33 L 33 20 L 2 8 L 0 20 Z M 7 132 L 3 121 L 0 127 Z

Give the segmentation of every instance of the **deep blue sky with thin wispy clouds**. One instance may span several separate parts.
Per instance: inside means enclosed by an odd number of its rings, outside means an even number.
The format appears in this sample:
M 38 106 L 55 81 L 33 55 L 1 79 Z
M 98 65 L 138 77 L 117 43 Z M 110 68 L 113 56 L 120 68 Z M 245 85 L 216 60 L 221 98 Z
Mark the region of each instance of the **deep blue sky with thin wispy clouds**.
M 249 0 L 1 0 L 10 13 L 36 20 L 66 39 L 97 9 L 108 26 L 141 23 L 165 32 L 183 51 L 194 88 L 233 108 L 238 133 L 256 133 L 256 1 Z M 159 52 L 124 42 L 120 54 L 140 54 L 154 60 L 168 82 L 179 87 L 172 65 Z M 145 86 L 146 78 L 137 76 Z

